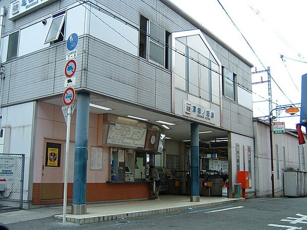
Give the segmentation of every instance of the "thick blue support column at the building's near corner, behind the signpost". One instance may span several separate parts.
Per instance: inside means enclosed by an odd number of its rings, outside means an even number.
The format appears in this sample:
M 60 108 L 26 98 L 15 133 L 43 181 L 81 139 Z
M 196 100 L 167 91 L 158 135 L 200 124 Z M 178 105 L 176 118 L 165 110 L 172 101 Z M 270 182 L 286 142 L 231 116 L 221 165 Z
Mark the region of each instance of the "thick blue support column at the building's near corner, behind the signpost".
M 72 214 L 86 214 L 90 94 L 78 93 Z

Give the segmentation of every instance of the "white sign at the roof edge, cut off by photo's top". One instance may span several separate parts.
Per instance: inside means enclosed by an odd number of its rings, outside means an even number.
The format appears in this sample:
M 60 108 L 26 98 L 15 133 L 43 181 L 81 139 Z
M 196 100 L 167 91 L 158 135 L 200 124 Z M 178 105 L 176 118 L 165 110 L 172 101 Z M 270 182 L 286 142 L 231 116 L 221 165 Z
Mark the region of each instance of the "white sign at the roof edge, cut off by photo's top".
M 15 0 L 9 8 L 9 20 L 16 20 L 56 0 Z

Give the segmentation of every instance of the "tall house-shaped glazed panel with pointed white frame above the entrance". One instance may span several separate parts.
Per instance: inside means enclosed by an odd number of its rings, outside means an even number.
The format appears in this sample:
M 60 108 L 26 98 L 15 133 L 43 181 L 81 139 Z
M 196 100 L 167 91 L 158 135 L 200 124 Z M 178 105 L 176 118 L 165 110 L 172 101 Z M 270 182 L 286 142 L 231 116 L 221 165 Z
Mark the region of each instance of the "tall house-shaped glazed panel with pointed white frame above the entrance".
M 174 87 L 220 104 L 220 65 L 199 30 L 172 34 Z

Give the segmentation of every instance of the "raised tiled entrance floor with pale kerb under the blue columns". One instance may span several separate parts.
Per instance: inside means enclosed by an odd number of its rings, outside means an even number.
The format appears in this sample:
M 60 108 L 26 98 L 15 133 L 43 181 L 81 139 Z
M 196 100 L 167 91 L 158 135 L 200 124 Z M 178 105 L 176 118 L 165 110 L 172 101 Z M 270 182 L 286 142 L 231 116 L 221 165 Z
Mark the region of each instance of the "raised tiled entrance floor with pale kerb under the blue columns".
M 87 214 L 71 214 L 71 206 L 67 206 L 66 221 L 79 225 L 110 220 L 123 220 L 132 217 L 141 217 L 183 210 L 191 210 L 214 205 L 229 204 L 244 201 L 244 198 L 208 197 L 201 196 L 200 202 L 191 202 L 190 196 L 160 195 L 159 200 L 117 201 L 100 204 L 88 204 Z M 62 209 L 62 207 L 57 207 Z M 62 210 L 61 210 L 62 211 Z M 63 219 L 63 215 L 53 215 Z

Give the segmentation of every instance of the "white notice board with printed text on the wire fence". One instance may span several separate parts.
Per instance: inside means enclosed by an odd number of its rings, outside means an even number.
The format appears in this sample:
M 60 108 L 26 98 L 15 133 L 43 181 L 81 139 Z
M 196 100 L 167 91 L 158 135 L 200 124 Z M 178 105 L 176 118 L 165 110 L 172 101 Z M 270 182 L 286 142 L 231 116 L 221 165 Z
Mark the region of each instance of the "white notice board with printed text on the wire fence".
M 16 174 L 16 157 L 0 157 L 0 184 L 14 184 Z

